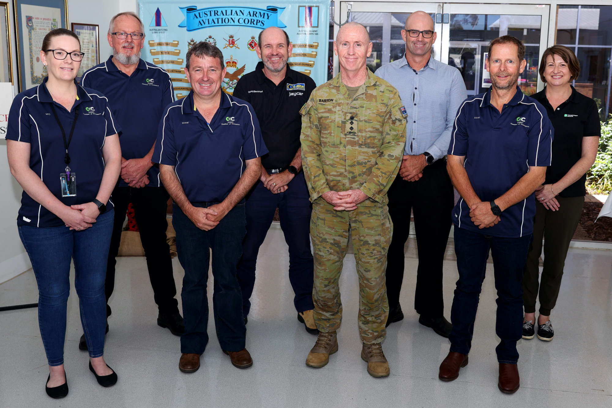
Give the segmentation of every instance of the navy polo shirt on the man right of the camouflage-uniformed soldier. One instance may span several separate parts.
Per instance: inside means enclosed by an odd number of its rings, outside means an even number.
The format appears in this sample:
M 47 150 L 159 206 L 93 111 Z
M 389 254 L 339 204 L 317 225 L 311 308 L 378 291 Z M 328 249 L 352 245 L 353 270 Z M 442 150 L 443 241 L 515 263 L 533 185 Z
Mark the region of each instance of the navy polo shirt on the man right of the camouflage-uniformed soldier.
M 517 86 L 502 108 L 491 105 L 491 91 L 471 96 L 461 104 L 453 126 L 448 154 L 465 157 L 465 170 L 482 201 L 493 201 L 509 191 L 529 166 L 549 166 L 553 126 L 546 110 Z M 504 210 L 494 227 L 479 229 L 461 198 L 452 211 L 459 228 L 486 235 L 518 238 L 533 232 L 534 194 Z

